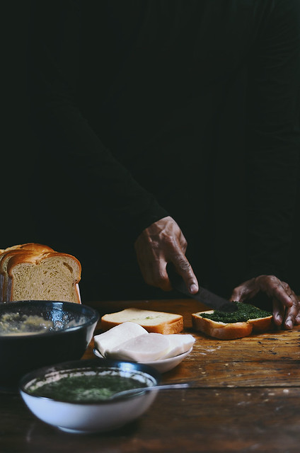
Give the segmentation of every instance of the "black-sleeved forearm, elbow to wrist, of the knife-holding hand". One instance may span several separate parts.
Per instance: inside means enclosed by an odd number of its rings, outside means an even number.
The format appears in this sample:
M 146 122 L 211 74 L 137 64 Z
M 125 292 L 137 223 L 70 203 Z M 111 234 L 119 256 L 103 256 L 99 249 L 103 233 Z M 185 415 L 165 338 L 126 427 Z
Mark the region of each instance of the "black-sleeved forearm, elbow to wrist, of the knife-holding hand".
M 35 129 L 52 167 L 71 174 L 80 204 L 93 200 L 93 209 L 108 217 L 118 233 L 133 242 L 147 226 L 168 215 L 103 146 L 78 110 L 59 105 L 53 112 L 45 107 L 37 121 Z

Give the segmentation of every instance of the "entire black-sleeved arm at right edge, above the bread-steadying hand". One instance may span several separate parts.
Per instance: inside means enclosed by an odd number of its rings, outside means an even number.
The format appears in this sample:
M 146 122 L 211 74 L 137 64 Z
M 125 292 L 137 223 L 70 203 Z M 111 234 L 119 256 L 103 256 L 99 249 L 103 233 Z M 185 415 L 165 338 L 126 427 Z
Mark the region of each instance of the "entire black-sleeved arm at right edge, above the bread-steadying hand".
M 299 2 L 276 1 L 249 64 L 246 277 L 284 277 L 299 175 Z

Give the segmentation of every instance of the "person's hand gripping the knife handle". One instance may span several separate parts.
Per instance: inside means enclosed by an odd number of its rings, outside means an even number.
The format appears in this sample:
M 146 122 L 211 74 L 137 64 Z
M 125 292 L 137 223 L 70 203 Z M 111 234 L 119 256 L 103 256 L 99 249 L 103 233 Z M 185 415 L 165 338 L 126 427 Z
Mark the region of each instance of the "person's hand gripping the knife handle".
M 172 217 L 163 217 L 144 229 L 135 241 L 134 249 L 145 282 L 170 291 L 172 286 L 166 265 L 173 263 L 190 293 L 198 292 L 197 278 L 185 257 L 187 246 L 185 236 Z

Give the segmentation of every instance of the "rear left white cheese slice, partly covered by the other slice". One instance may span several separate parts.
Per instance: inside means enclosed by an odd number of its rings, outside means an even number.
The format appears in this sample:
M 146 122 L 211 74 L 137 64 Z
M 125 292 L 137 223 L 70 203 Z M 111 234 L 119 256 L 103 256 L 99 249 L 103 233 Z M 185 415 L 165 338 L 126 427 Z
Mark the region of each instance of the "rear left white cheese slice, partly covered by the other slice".
M 112 350 L 140 335 L 147 333 L 146 329 L 137 323 L 125 322 L 119 326 L 110 328 L 109 331 L 94 336 L 95 348 L 106 356 L 107 350 Z

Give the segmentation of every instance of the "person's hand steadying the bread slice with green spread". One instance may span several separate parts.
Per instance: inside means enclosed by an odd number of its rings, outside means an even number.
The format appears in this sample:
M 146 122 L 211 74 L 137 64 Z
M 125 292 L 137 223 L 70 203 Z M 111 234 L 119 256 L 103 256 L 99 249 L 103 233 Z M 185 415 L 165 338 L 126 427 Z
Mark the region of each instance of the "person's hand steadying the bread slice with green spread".
M 300 301 L 286 282 L 275 275 L 259 275 L 233 289 L 230 300 L 245 302 L 252 299 L 258 292 L 267 294 L 272 299 L 273 320 L 276 326 L 287 330 L 294 324 L 300 324 Z

